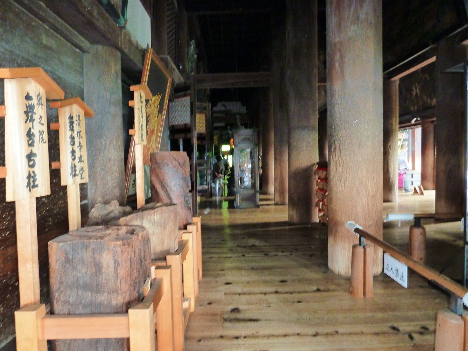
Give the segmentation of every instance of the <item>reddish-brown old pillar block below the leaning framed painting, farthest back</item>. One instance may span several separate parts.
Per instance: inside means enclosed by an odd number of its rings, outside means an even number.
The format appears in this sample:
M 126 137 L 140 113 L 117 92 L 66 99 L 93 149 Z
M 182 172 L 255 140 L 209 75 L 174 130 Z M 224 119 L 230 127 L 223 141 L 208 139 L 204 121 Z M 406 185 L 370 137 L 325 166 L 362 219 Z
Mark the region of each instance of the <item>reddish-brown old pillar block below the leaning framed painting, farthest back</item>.
M 179 229 L 192 223 L 190 162 L 185 152 L 165 151 L 150 155 L 151 200 L 176 204 Z

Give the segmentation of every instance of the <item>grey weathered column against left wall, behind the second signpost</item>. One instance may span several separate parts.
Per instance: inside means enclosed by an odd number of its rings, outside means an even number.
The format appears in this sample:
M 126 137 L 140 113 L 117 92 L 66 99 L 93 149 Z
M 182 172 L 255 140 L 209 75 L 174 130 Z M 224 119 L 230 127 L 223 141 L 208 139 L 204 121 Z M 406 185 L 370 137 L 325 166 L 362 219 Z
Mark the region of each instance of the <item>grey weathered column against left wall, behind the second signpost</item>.
M 94 111 L 86 121 L 88 200 L 94 205 L 124 203 L 124 134 L 120 53 L 93 45 L 83 55 L 85 102 Z

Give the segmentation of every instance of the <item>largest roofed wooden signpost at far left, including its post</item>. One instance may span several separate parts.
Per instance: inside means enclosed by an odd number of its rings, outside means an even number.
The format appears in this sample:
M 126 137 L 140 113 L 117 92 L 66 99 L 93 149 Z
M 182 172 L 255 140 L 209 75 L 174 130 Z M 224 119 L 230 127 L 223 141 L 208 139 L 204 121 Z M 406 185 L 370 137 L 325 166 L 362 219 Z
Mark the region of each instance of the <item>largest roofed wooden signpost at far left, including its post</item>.
M 45 99 L 64 91 L 42 68 L 0 68 L 5 79 L 5 164 L 7 201 L 16 205 L 20 306 L 40 302 L 36 197 L 50 195 Z M 6 174 L 5 174 L 6 173 Z

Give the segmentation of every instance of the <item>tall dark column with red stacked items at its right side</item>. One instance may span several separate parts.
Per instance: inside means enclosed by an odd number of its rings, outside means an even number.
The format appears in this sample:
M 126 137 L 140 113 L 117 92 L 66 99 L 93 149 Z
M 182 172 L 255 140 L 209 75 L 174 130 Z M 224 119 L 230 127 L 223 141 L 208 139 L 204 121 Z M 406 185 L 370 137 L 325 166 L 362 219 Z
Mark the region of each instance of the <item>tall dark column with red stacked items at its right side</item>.
M 291 223 L 318 222 L 317 0 L 286 1 L 288 209 Z

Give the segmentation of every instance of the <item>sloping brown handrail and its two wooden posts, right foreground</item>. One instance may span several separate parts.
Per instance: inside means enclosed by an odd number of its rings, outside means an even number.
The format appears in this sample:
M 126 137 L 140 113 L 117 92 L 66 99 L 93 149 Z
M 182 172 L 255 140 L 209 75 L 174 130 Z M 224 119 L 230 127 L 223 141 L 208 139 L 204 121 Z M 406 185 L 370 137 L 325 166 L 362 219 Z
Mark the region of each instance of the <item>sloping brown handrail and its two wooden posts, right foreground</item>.
M 349 221 L 346 223 L 346 227 L 359 236 L 359 244 L 353 245 L 352 248 L 351 295 L 355 297 L 372 296 L 372 261 L 369 252 L 370 247 L 365 245 L 365 240 L 367 240 L 406 264 L 424 278 L 437 283 L 437 285 L 450 292 L 450 310 L 444 308 L 437 314 L 435 351 L 468 351 L 468 314 L 464 314 L 462 308 L 463 304 L 468 307 L 468 288 L 408 256 L 388 242 L 367 233 L 356 223 Z M 367 255 L 366 249 L 368 251 Z

